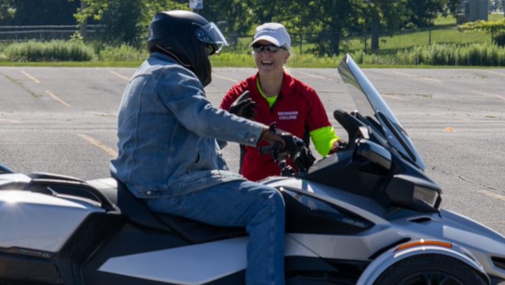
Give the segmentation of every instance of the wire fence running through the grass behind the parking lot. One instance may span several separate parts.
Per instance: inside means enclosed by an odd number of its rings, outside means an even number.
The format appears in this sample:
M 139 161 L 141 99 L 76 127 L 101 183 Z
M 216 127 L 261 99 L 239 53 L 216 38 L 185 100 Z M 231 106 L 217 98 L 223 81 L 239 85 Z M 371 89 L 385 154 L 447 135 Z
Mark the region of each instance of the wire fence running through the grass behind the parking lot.
M 51 41 L 69 40 L 76 32 L 85 39 L 99 39 L 103 25 L 87 25 L 85 30 L 76 25 L 43 25 L 43 26 L 0 26 L 0 42 L 13 41 Z M 250 53 L 249 43 L 252 34 L 228 32 L 226 38 L 230 43 L 227 50 L 234 53 Z M 388 48 L 412 48 L 430 46 L 434 43 L 492 43 L 494 34 L 462 33 L 456 27 L 413 29 L 407 31 L 382 32 L 378 39 L 380 50 Z M 320 33 L 292 33 L 291 50 L 300 55 L 331 53 L 332 45 L 338 44 L 339 50 L 371 51 L 370 32 L 353 32 L 340 34 L 336 31 Z M 326 45 L 326 46 L 325 46 Z

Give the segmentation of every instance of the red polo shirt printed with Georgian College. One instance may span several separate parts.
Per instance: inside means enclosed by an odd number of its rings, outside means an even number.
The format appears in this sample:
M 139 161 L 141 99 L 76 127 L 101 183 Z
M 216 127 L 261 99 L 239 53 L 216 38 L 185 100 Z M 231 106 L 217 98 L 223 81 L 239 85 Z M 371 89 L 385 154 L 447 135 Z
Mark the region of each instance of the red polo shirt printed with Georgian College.
M 265 125 L 275 122 L 277 129 L 304 139 L 307 145 L 310 138 L 309 132 L 331 126 L 321 99 L 309 85 L 284 71 L 281 90 L 275 104 L 270 108 L 267 100 L 256 87 L 257 77 L 258 74 L 255 74 L 230 88 L 220 107 L 229 110 L 235 99 L 245 90 L 249 90 L 251 99 L 258 103 L 254 120 Z M 265 141 L 261 141 L 260 146 L 267 144 Z M 292 165 L 292 163 L 290 164 Z M 261 155 L 258 149 L 252 146 L 245 147 L 241 171 L 244 177 L 252 181 L 280 174 L 280 169 L 272 155 Z

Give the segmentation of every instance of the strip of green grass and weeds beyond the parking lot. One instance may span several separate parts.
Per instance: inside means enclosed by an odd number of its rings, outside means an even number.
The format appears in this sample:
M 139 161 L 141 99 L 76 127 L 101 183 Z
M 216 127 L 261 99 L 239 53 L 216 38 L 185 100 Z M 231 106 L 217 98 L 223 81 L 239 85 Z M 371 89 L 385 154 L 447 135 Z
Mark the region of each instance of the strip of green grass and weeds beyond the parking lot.
M 503 14 L 490 14 L 489 20 L 501 20 Z M 340 43 L 341 54 L 337 57 L 316 57 L 312 50 L 315 44 L 307 42 L 307 36 L 303 37 L 300 46 L 300 36 L 292 35 L 291 57 L 288 67 L 336 67 L 345 53 L 350 53 L 357 62 L 363 66 L 394 67 L 398 65 L 410 66 L 419 64 L 417 67 L 426 67 L 426 64 L 443 64 L 443 59 L 448 62 L 485 62 L 483 65 L 498 63 L 501 58 L 501 50 L 492 49 L 492 36 L 483 32 L 459 32 L 456 20 L 452 16 L 447 18 L 438 17 L 435 27 L 430 30 L 406 31 L 387 34 L 380 37 L 380 50 L 371 53 L 370 35 L 364 41 L 364 35 L 355 35 L 343 39 Z M 254 67 L 249 43 L 251 35 L 242 36 L 237 40 L 237 45 L 223 48 L 221 55 L 210 58 L 213 67 Z M 471 45 L 473 46 L 471 46 Z M 477 44 L 477 45 L 476 45 Z M 77 50 L 72 43 L 17 43 L 8 45 L 0 43 L 0 66 L 46 66 L 46 67 L 138 67 L 147 56 L 144 47 L 137 49 L 122 45 L 119 47 L 104 46 L 102 43 L 81 43 L 82 50 Z M 69 47 L 70 46 L 70 47 Z M 34 48 L 38 47 L 38 48 Z M 453 54 L 444 49 L 454 50 Z M 41 50 L 43 53 L 41 53 Z M 88 53 L 92 55 L 89 57 Z M 365 52 L 366 51 L 366 52 Z M 26 53 L 27 56 L 23 56 Z M 46 53 L 48 55 L 46 55 Z M 61 62 L 54 60 L 50 53 L 64 55 L 82 54 L 84 61 L 67 60 Z M 435 53 L 431 56 L 430 53 Z M 42 54 L 46 62 L 28 60 Z M 85 56 L 84 56 L 85 55 Z M 422 60 L 420 60 L 422 55 Z M 496 60 L 489 60 L 497 56 Z M 64 57 L 64 58 L 65 58 Z M 401 59 L 399 59 L 401 57 Z M 472 57 L 466 59 L 465 57 Z M 455 60 L 456 59 L 456 60 Z M 503 65 L 501 65 L 503 66 Z

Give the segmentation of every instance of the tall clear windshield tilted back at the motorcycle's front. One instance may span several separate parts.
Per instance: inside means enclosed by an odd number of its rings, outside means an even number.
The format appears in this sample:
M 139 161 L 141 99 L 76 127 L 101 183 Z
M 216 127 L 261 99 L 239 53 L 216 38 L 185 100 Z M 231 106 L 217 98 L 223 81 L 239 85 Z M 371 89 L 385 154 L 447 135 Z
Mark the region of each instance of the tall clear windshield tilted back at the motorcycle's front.
M 345 55 L 340 62 L 338 73 L 344 83 L 349 86 L 350 95 L 357 106 L 357 111 L 362 116 L 375 120 L 382 127 L 385 139 L 389 141 L 389 144 L 396 148 L 404 158 L 424 170 L 424 162 L 400 121 L 394 116 L 379 92 L 375 90 L 350 55 Z

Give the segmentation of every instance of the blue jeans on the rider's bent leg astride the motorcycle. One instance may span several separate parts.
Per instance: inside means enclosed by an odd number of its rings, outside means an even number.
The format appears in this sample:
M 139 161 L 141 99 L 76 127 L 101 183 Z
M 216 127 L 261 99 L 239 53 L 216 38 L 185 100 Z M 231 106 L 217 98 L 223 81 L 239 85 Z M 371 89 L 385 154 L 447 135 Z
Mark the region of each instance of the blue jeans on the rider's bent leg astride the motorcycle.
M 247 285 L 284 285 L 285 207 L 275 188 L 231 181 L 187 195 L 146 200 L 153 211 L 221 226 L 244 226 Z

